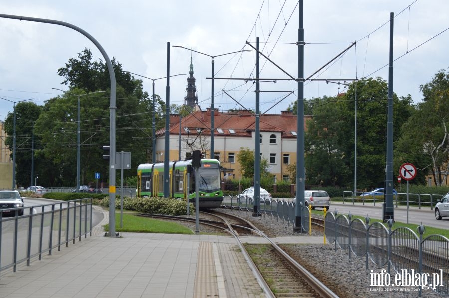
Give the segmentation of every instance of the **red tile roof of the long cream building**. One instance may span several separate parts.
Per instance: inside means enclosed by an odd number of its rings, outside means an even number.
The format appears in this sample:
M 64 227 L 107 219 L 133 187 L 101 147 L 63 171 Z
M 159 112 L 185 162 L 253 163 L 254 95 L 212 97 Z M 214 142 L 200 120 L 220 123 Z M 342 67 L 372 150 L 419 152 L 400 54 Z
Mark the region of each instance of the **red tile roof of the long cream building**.
M 170 117 L 170 134 L 179 134 L 179 116 L 171 115 Z M 312 116 L 304 116 L 304 129 L 306 129 L 306 121 Z M 281 132 L 282 138 L 296 138 L 291 132 L 297 131 L 297 117 L 291 111 L 283 111 L 282 114 L 263 114 L 260 115 L 259 127 L 260 132 Z M 196 129 L 203 129 L 202 134 L 210 135 L 211 130 L 211 109 L 206 111 L 197 111 L 183 117 L 181 120 L 181 134 L 187 135 L 185 129 L 192 132 Z M 250 111 L 239 110 L 227 113 L 221 113 L 217 109 L 214 113 L 214 134 L 217 136 L 251 136 L 251 132 L 255 130 L 255 116 Z M 217 129 L 223 130 L 219 133 Z M 229 129 L 235 133 L 231 133 Z M 156 135 L 163 135 L 165 128 L 156 132 Z

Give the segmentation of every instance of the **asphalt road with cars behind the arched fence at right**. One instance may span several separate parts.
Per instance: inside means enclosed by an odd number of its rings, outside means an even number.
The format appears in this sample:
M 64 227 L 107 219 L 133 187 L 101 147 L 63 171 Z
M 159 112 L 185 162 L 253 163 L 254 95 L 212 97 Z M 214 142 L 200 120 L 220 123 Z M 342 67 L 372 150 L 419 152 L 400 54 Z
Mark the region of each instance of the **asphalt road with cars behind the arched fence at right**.
M 316 209 L 320 210 L 320 209 Z M 345 202 L 344 204 L 341 202 L 332 202 L 330 210 L 334 212 L 337 210 L 340 214 L 348 215 L 349 212 L 353 215 L 366 216 L 368 215 L 370 218 L 382 219 L 382 203 L 376 203 L 376 206 L 373 204 L 365 204 L 362 203 L 354 203 Z M 407 223 L 407 208 L 406 206 L 398 205 L 398 208 L 394 208 L 394 220 L 397 222 Z M 447 229 L 449 228 L 449 217 L 444 217 L 442 220 L 435 219 L 434 210 L 431 210 L 429 206 L 421 207 L 409 207 L 408 212 L 408 222 L 411 224 L 423 224 L 424 226 L 431 226 L 436 228 Z

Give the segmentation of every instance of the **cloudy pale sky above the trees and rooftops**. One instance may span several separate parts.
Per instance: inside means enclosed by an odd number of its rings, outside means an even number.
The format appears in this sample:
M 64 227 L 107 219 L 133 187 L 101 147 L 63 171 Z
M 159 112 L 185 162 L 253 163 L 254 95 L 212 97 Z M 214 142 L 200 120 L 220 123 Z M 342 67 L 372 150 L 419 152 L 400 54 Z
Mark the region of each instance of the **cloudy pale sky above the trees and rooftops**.
M 388 20 L 390 12 L 394 12 L 393 57 L 402 57 L 393 63 L 393 89 L 397 95 L 411 94 L 414 102 L 419 102 L 420 84 L 449 66 L 449 30 L 445 31 L 449 28 L 448 11 L 447 0 L 304 0 L 304 77 L 357 41 L 356 46 L 312 78 L 379 76 L 388 80 Z M 3 0 L 0 13 L 78 26 L 92 35 L 124 70 L 150 78 L 167 75 L 168 42 L 218 56 L 252 50 L 246 42 L 255 47 L 256 37 L 264 55 L 282 69 L 260 57 L 260 78 L 286 79 L 286 73 L 298 77 L 295 43 L 299 12 L 297 1 L 293 0 Z M 68 90 L 61 85 L 63 78 L 57 70 L 86 47 L 95 60 L 104 60 L 91 41 L 63 26 L 0 18 L 0 40 L 0 97 L 14 102 L 36 98 L 33 101 L 41 105 L 61 94 L 51 88 Z M 207 78 L 211 77 L 212 59 L 170 47 L 170 75 L 188 74 L 191 56 L 199 104 L 205 110 L 211 106 L 211 80 Z M 216 57 L 215 77 L 254 78 L 255 57 L 254 50 Z M 186 79 L 187 76 L 170 78 L 171 104 L 184 103 Z M 152 81 L 142 80 L 144 90 L 151 94 Z M 166 85 L 166 79 L 155 83 L 155 92 L 163 100 Z M 260 94 L 262 113 L 270 108 L 268 113 L 280 113 L 296 100 L 295 81 L 260 85 L 262 91 L 279 91 Z M 216 79 L 215 108 L 240 107 L 234 98 L 245 108 L 254 109 L 254 87 L 253 81 Z M 294 93 L 282 100 L 290 91 Z M 304 85 L 306 99 L 335 96 L 339 91 L 344 91 L 343 85 L 323 81 L 307 81 Z M 13 103 L 0 99 L 0 120 L 12 111 Z

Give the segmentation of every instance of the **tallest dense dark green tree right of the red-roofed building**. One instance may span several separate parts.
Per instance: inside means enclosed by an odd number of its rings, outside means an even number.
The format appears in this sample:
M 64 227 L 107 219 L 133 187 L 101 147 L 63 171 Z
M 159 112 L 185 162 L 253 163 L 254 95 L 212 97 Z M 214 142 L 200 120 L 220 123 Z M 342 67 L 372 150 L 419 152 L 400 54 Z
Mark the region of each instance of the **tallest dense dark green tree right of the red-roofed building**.
M 357 185 L 372 189 L 385 184 L 387 98 L 388 86 L 382 78 L 362 79 L 351 83 L 347 93 L 339 97 L 341 125 L 339 147 L 349 169 L 354 168 L 354 119 L 357 85 Z M 399 128 L 410 117 L 411 99 L 398 98 L 393 93 L 393 140 L 400 136 Z M 393 143 L 396 147 L 396 143 Z M 398 167 L 399 169 L 399 167 Z M 350 183 L 350 181 L 348 181 Z

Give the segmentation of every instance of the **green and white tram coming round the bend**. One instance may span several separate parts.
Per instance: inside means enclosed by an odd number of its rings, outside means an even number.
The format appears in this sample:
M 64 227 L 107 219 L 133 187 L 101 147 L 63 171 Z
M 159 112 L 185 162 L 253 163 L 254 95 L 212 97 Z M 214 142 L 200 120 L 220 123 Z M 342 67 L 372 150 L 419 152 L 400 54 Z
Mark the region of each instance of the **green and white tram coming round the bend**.
M 220 207 L 223 201 L 220 173 L 222 167 L 217 159 L 201 159 L 198 168 L 200 209 Z M 189 181 L 187 181 L 189 174 Z M 182 198 L 195 205 L 195 170 L 192 159 L 169 163 L 170 197 Z M 188 186 L 188 187 L 187 187 Z M 144 163 L 137 167 L 137 196 L 163 197 L 164 163 Z M 187 193 L 189 191 L 189 193 Z

